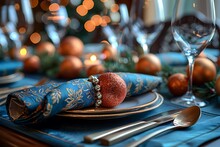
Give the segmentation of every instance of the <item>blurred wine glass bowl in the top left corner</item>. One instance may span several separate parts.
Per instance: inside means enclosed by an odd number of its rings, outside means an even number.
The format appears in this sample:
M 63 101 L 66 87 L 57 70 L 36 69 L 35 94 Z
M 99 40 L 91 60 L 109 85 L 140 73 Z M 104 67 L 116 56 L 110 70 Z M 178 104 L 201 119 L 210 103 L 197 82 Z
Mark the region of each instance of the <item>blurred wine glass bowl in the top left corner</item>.
M 33 14 L 29 0 L 4 0 L 0 5 L 0 26 L 8 38 L 9 49 L 15 58 L 33 31 Z

